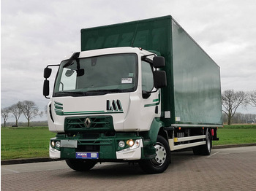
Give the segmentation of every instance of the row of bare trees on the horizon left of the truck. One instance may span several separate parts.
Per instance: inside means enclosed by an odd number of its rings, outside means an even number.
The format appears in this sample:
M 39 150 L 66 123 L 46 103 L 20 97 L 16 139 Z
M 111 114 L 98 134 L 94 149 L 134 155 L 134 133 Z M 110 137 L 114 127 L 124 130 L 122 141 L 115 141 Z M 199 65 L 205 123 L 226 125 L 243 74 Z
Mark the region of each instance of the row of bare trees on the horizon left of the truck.
M 28 120 L 29 127 L 31 119 L 37 116 L 42 117 L 42 114 L 44 114 L 44 112 L 39 111 L 39 108 L 34 103 L 34 101 L 18 101 L 17 104 L 13 104 L 12 106 L 1 109 L 1 117 L 4 119 L 4 127 L 6 126 L 7 120 L 10 118 L 10 114 L 15 117 L 16 127 L 18 127 L 18 120 L 20 119 L 20 116 L 22 114 Z

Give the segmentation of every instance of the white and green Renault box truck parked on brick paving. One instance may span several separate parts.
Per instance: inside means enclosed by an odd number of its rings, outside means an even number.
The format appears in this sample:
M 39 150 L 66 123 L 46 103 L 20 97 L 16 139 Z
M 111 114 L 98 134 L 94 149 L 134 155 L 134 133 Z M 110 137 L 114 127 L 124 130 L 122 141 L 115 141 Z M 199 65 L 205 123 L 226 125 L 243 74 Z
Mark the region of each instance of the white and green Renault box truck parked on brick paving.
M 50 158 L 75 171 L 126 162 L 159 174 L 178 149 L 211 154 L 222 127 L 219 66 L 172 16 L 80 33 L 81 51 L 44 70 Z

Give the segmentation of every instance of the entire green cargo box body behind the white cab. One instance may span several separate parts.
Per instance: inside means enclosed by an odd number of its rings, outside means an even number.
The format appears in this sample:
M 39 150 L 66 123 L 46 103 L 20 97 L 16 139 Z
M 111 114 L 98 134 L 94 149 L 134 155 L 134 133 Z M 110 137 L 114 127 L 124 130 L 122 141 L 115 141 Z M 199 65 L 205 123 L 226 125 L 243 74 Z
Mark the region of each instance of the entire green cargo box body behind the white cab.
M 81 30 L 81 51 L 142 47 L 165 57 L 165 126 L 222 125 L 219 66 L 170 15 Z

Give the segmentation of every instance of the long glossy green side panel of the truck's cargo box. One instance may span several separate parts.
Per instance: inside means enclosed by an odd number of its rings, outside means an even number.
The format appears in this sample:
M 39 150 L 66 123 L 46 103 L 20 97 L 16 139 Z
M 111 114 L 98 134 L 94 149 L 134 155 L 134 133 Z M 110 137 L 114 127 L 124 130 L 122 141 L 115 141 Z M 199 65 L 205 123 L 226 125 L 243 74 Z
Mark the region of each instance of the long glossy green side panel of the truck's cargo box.
M 173 21 L 176 123 L 222 125 L 219 66 Z

